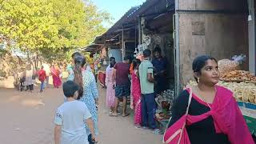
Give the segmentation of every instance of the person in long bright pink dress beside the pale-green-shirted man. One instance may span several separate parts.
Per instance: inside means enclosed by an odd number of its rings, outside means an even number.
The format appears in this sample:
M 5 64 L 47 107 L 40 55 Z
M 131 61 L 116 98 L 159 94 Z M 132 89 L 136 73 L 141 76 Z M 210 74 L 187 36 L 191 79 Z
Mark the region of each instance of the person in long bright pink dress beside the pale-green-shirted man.
M 141 86 L 138 78 L 138 66 L 140 64 L 139 59 L 134 59 L 133 66 L 134 71 L 131 75 L 132 81 L 132 101 L 131 108 L 134 109 L 134 125 L 139 128 L 142 125 L 142 103 L 141 103 Z

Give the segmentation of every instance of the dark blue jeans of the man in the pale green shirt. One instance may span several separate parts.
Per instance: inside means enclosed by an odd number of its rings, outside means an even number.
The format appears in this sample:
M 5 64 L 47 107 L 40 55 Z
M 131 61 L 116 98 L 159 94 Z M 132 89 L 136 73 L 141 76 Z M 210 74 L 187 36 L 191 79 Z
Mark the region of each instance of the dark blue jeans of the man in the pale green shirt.
M 148 126 L 150 129 L 157 128 L 154 120 L 155 108 L 154 93 L 142 94 L 142 126 Z

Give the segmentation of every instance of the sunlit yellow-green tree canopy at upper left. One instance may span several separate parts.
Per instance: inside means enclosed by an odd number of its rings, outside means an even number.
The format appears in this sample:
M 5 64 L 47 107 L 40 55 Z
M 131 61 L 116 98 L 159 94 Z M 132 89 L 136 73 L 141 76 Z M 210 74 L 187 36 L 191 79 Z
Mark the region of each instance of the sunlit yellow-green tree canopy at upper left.
M 90 0 L 0 0 L 0 39 L 8 50 L 45 58 L 63 57 L 90 44 L 110 20 Z

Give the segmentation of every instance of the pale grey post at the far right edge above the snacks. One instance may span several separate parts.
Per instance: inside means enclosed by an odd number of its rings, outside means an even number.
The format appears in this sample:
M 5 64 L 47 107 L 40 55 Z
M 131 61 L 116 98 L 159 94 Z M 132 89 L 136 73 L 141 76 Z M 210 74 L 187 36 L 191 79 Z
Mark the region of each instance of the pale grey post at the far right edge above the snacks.
M 248 34 L 249 34 L 249 70 L 251 73 L 256 74 L 256 50 L 255 50 L 255 9 L 254 0 L 248 0 L 249 11 L 251 13 L 252 20 L 248 22 Z

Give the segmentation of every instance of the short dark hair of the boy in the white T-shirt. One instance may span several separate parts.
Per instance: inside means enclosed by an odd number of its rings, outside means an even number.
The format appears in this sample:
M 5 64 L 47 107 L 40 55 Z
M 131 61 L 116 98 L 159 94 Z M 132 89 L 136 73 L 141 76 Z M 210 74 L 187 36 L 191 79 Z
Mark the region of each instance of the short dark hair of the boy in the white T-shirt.
M 73 81 L 66 81 L 62 85 L 62 89 L 66 98 L 71 98 L 74 97 L 74 93 L 79 90 L 79 86 Z

